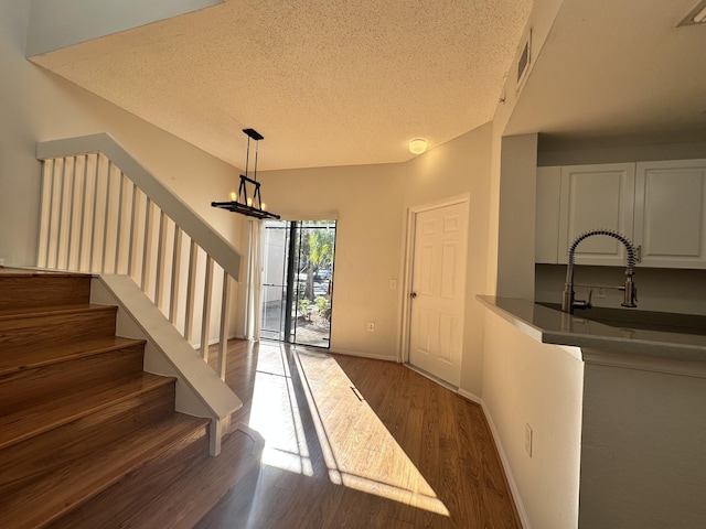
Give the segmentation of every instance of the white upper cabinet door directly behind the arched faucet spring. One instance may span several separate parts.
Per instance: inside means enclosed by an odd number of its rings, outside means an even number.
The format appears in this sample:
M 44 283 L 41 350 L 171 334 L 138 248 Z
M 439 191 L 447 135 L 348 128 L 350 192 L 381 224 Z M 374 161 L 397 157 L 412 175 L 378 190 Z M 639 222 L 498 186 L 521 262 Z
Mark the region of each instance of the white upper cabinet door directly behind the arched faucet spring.
M 576 238 L 593 229 L 612 229 L 632 239 L 634 163 L 561 168 L 558 261 L 568 261 Z M 624 266 L 625 249 L 612 237 L 589 237 L 576 249 L 578 264 Z

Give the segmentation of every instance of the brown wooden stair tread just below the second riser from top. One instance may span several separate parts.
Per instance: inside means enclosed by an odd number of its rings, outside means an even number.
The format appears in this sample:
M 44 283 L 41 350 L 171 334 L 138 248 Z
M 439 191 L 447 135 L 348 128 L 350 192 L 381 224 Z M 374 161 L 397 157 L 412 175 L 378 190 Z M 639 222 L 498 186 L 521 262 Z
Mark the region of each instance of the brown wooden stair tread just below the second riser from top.
M 143 344 L 143 339 L 105 336 L 68 344 L 6 349 L 0 355 L 0 376 Z

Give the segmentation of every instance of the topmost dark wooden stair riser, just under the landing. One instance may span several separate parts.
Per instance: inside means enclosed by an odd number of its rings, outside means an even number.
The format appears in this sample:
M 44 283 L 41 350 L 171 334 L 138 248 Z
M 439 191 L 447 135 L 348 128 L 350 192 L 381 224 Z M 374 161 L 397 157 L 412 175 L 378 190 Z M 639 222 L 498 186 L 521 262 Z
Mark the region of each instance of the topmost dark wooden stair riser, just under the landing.
M 0 310 L 88 303 L 88 276 L 0 276 Z

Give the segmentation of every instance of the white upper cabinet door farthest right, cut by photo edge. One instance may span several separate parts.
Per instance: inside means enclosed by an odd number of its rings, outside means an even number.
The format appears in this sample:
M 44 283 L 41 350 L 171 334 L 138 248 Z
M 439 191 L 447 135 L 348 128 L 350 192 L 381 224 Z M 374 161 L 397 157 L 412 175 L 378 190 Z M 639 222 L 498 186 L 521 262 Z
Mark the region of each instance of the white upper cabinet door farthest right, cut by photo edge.
M 706 160 L 638 163 L 634 238 L 642 266 L 706 268 Z

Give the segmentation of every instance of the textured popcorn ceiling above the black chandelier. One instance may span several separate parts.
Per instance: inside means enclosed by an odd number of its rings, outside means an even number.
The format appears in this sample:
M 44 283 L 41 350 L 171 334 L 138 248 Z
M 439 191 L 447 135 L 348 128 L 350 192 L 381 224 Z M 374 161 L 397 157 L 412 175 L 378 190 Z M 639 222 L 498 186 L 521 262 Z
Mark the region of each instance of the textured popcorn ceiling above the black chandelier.
M 226 0 L 33 57 L 236 166 L 399 162 L 493 118 L 532 0 Z

